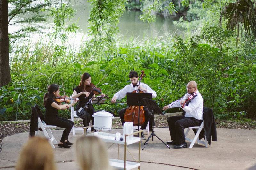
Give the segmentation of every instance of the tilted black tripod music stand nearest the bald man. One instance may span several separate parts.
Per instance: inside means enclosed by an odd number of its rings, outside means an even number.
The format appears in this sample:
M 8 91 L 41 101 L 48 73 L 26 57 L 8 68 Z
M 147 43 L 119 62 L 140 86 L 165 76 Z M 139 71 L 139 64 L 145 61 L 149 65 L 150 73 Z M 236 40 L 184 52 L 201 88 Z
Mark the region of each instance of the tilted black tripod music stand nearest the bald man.
M 143 101 L 143 103 L 145 104 L 145 106 L 148 106 L 148 110 L 152 111 L 152 121 L 154 122 L 154 114 L 163 114 L 163 112 L 161 111 L 161 109 L 158 107 L 157 103 L 155 100 L 151 100 L 151 99 L 146 99 L 146 98 L 141 98 L 141 100 Z M 148 141 L 150 140 L 150 138 L 152 137 L 152 141 L 154 140 L 154 136 L 156 136 L 156 134 L 154 133 L 154 123 L 152 123 L 152 132 L 150 134 L 150 136 L 148 137 L 148 139 L 145 141 L 144 143 L 144 147 L 142 148 L 142 150 L 144 150 L 144 148 L 147 146 Z M 164 143 L 164 141 L 162 141 L 158 136 L 156 136 L 161 142 Z M 170 147 L 165 144 L 169 149 Z

